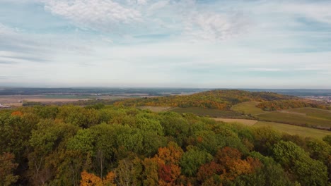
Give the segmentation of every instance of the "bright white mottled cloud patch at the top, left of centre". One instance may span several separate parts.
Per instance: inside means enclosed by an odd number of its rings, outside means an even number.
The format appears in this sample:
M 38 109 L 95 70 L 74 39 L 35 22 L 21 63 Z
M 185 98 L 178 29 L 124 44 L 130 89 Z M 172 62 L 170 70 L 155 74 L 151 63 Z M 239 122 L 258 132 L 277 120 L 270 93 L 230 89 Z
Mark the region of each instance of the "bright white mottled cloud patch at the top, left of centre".
M 144 1 L 138 1 L 144 4 Z M 110 0 L 45 1 L 45 10 L 93 30 L 117 32 L 119 25 L 141 22 L 141 13 Z

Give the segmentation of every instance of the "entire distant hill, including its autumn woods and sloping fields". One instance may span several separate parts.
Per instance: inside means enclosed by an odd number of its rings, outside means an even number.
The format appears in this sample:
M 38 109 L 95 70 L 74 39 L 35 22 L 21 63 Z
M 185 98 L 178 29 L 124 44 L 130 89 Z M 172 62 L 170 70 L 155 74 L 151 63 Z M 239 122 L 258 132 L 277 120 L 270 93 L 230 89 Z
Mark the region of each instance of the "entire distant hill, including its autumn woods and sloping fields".
M 123 99 L 116 101 L 115 105 L 137 106 L 151 111 L 194 113 L 211 118 L 252 119 L 322 130 L 331 129 L 331 112 L 328 111 L 330 106 L 273 92 L 212 90 L 185 96 Z M 303 108 L 310 110 L 303 110 L 308 113 L 302 114 L 291 110 L 301 111 Z M 312 111 L 313 113 L 310 113 Z

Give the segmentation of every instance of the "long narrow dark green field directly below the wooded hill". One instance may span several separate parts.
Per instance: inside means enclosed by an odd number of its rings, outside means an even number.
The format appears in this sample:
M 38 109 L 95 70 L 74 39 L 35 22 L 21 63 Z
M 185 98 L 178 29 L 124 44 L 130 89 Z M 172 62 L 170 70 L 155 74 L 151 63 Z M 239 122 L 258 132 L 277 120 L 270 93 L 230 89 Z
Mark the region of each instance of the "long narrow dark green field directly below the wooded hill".
M 209 116 L 212 118 L 241 118 L 240 113 L 235 111 L 221 111 L 218 109 L 202 109 L 198 107 L 189 107 L 189 108 L 175 108 L 170 111 L 178 113 L 194 113 L 197 116 Z

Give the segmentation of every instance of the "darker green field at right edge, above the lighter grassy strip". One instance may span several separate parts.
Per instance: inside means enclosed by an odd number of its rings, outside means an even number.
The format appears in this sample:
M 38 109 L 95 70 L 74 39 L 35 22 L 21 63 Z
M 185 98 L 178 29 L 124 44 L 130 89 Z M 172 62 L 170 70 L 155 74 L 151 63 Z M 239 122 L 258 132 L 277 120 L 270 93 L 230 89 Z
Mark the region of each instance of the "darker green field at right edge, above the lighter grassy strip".
M 311 110 L 316 111 L 315 113 L 309 113 Z M 303 112 L 307 113 L 305 114 Z M 322 115 L 321 113 L 323 112 L 325 111 L 321 109 L 290 109 L 285 111 L 264 113 L 255 117 L 257 117 L 258 120 L 272 121 L 277 123 L 288 123 L 308 127 L 313 126 L 318 128 L 331 128 L 331 118 L 329 118 L 329 115 Z

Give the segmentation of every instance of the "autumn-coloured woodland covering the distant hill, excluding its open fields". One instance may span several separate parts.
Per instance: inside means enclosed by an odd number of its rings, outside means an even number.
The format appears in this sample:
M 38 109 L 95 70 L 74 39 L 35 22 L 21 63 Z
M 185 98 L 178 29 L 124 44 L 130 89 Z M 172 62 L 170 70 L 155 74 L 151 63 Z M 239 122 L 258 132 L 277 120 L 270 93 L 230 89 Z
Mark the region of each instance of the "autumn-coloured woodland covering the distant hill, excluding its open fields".
M 330 109 L 318 102 L 299 97 L 287 96 L 273 92 L 248 92 L 242 90 L 211 90 L 186 96 L 151 97 L 141 99 L 124 99 L 115 102 L 118 106 L 173 106 L 199 107 L 204 109 L 230 110 L 231 106 L 245 101 L 261 101 L 257 107 L 265 111 L 313 107 Z

